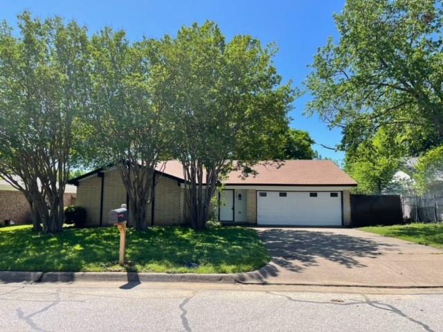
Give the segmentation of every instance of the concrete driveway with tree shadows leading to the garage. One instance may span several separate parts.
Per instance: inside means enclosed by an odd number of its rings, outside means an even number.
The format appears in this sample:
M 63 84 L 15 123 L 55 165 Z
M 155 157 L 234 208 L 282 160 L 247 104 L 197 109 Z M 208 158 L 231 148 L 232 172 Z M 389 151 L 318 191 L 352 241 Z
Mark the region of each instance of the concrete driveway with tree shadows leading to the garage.
M 347 228 L 255 228 L 271 262 L 246 283 L 443 286 L 443 250 Z

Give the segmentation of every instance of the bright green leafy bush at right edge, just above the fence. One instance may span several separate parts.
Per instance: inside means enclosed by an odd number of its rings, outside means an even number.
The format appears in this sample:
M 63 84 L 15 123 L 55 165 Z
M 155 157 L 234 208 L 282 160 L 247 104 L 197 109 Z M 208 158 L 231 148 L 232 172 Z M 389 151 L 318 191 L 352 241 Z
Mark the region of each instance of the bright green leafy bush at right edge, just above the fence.
M 443 145 L 435 147 L 419 158 L 414 176 L 421 192 L 439 187 L 443 183 Z

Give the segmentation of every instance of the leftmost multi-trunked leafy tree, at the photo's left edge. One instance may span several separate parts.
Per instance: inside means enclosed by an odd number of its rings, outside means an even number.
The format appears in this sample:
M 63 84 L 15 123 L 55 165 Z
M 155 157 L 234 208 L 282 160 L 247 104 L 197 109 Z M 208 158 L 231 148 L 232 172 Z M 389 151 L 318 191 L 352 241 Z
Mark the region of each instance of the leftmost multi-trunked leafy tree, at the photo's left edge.
M 0 26 L 0 176 L 28 200 L 34 230 L 60 232 L 73 128 L 87 104 L 87 31 L 29 12 L 18 26 Z

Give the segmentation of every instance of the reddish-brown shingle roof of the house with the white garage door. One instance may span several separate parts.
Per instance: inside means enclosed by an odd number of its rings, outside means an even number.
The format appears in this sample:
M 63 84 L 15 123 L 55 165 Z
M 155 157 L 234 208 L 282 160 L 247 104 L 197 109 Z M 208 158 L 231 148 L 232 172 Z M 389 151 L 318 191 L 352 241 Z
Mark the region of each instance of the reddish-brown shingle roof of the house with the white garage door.
M 356 186 L 357 183 L 331 160 L 282 160 L 261 162 L 253 167 L 257 174 L 244 177 L 242 171 L 228 174 L 224 185 L 322 185 Z M 100 172 L 85 174 L 70 181 L 77 181 Z M 183 181 L 183 166 L 178 160 L 169 160 L 157 167 L 157 172 Z

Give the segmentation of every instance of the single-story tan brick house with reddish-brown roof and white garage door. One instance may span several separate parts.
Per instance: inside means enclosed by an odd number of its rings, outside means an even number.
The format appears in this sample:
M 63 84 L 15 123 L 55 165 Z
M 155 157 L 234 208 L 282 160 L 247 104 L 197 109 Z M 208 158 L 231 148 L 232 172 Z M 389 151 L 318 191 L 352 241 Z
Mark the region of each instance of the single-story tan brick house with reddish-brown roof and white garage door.
M 219 192 L 217 218 L 223 223 L 256 225 L 350 225 L 350 189 L 356 182 L 330 160 L 285 160 L 260 163 L 257 174 L 231 172 Z M 186 222 L 183 167 L 168 161 L 156 172 L 150 225 Z M 88 225 L 109 225 L 110 210 L 127 203 L 116 167 L 96 169 L 70 181 L 77 185 L 77 204 L 86 208 Z M 129 220 L 129 224 L 131 221 Z

